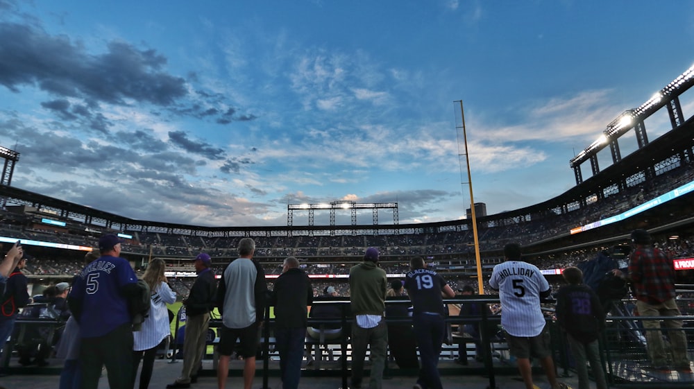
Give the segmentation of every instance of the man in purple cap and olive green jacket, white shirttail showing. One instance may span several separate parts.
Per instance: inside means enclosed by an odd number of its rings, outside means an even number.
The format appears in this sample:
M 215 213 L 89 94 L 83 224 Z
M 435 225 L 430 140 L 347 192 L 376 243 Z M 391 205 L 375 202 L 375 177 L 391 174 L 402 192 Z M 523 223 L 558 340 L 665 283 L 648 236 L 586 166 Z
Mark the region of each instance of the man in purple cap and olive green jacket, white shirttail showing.
M 352 327 L 352 382 L 361 388 L 366 347 L 371 350 L 370 389 L 381 389 L 388 347 L 388 328 L 383 318 L 388 279 L 378 267 L 378 250 L 368 248 L 362 263 L 349 271 L 350 307 L 355 315 Z

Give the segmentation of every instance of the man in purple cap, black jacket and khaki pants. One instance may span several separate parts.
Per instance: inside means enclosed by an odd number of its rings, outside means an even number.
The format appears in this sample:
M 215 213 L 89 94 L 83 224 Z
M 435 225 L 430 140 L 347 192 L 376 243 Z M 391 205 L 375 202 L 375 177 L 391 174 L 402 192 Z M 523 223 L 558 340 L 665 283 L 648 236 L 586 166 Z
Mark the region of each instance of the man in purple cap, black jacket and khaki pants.
M 210 328 L 210 311 L 214 308 L 217 280 L 214 279 L 212 259 L 204 252 L 195 257 L 198 277 L 190 288 L 185 306 L 185 332 L 183 336 L 183 368 L 180 377 L 169 383 L 167 388 L 190 388 L 198 379 L 198 367 L 205 352 L 205 340 Z

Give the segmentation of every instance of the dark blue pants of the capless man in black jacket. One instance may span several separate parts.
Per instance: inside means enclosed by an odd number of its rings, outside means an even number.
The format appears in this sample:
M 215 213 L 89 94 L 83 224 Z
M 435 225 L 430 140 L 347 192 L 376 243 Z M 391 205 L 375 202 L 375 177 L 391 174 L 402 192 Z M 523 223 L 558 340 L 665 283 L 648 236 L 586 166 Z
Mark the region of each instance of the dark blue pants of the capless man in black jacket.
M 280 353 L 282 389 L 296 389 L 299 386 L 305 335 L 305 327 L 275 330 L 276 347 Z

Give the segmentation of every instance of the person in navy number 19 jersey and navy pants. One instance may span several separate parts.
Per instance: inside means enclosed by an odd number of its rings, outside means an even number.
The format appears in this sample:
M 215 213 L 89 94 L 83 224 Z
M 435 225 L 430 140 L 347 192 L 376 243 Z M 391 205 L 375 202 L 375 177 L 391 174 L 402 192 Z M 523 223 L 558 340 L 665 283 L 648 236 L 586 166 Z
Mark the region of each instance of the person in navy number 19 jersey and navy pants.
M 443 389 L 437 368 L 446 331 L 443 297 L 455 297 L 455 292 L 441 275 L 426 268 L 422 257 L 412 258 L 409 268 L 411 270 L 405 276 L 405 289 L 414 308 L 412 323 L 422 365 L 414 389 Z

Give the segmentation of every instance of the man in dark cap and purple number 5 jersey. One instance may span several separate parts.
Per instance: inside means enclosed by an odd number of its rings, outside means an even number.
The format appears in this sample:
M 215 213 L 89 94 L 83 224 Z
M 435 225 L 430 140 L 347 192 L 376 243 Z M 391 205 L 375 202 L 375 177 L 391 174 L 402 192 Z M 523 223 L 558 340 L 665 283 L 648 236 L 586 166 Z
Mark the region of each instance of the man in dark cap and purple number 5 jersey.
M 111 389 L 132 389 L 133 317 L 128 302 L 139 293 L 130 262 L 119 257 L 122 239 L 99 239 L 101 257 L 74 279 L 67 303 L 80 325 L 82 388 L 99 386 L 105 365 Z

